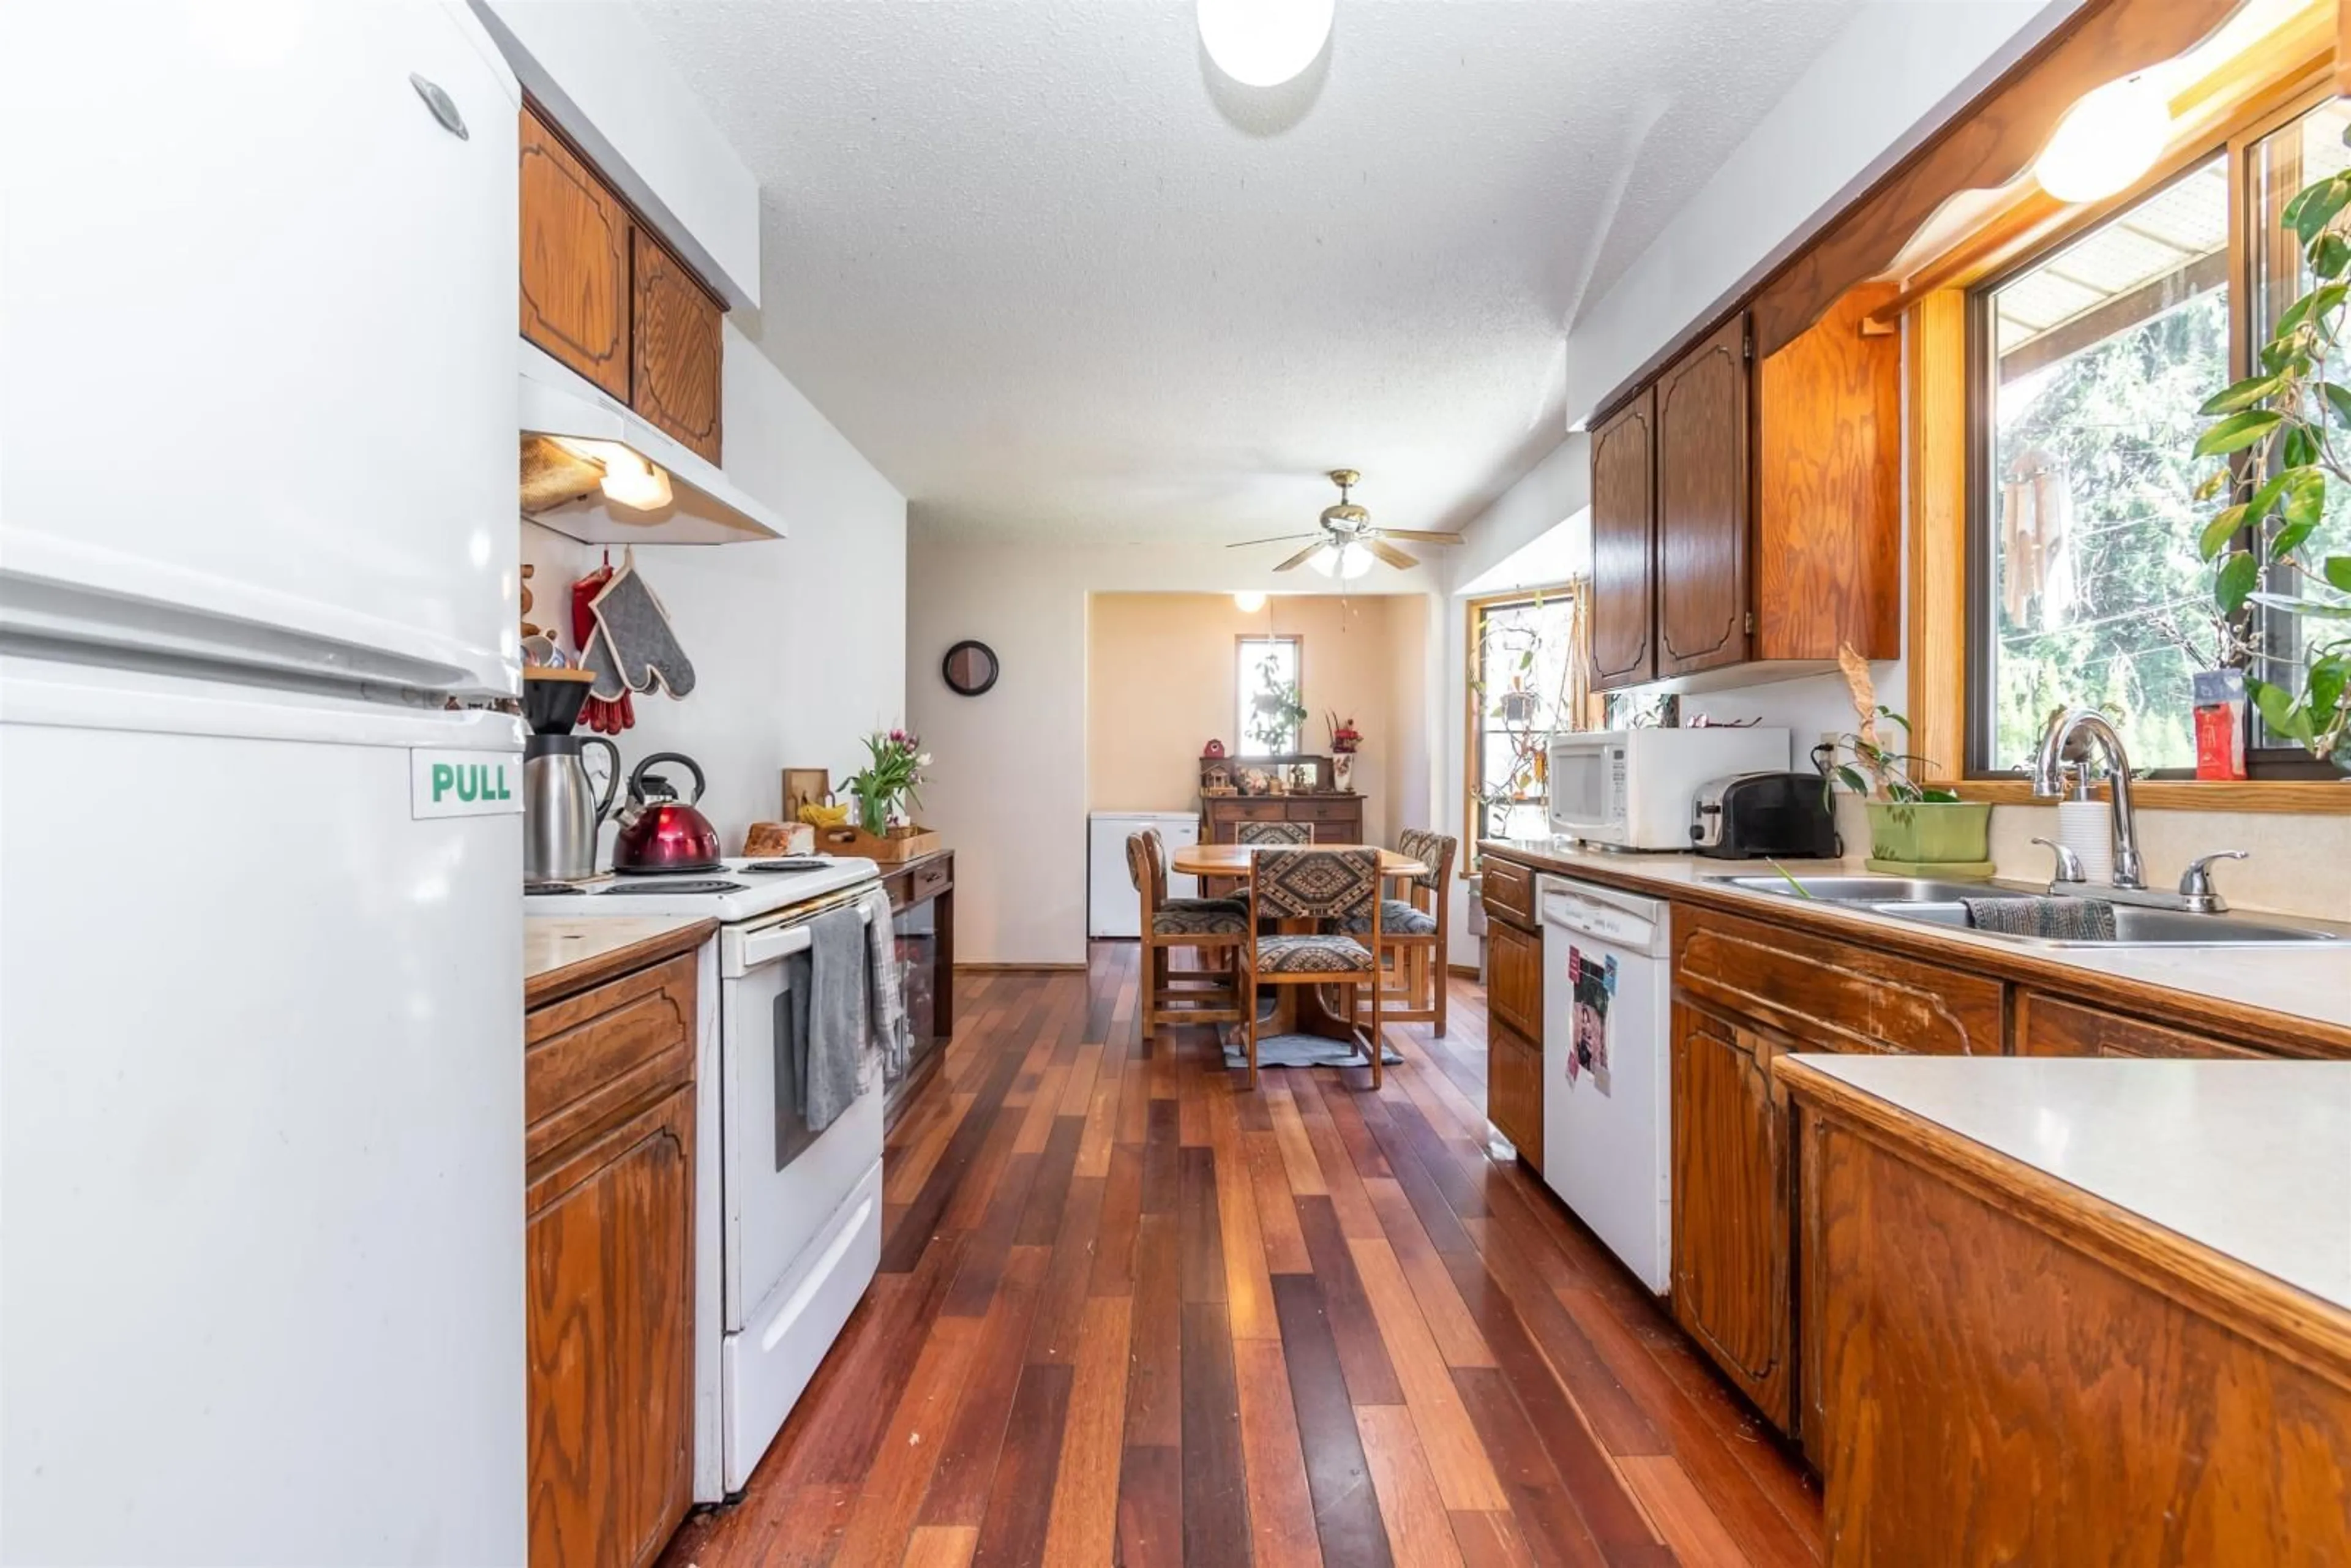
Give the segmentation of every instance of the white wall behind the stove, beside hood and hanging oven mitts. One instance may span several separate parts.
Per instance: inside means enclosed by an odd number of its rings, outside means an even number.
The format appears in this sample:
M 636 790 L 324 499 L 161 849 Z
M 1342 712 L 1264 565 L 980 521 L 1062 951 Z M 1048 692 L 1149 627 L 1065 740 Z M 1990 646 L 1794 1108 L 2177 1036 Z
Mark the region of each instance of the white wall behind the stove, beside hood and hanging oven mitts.
M 637 569 L 694 661 L 686 701 L 639 696 L 618 736 L 635 766 L 686 752 L 703 766 L 703 809 L 726 853 L 781 813 L 781 771 L 863 764 L 858 738 L 905 708 L 905 496 L 799 390 L 726 324 L 726 473 L 773 505 L 790 538 L 757 545 L 651 545 Z M 538 625 L 567 625 L 569 585 L 602 555 L 522 524 L 536 564 Z M 614 550 L 614 559 L 618 559 Z M 567 639 L 569 646 L 569 639 Z M 672 783 L 686 788 L 684 773 Z M 611 827 L 604 846 L 611 844 Z

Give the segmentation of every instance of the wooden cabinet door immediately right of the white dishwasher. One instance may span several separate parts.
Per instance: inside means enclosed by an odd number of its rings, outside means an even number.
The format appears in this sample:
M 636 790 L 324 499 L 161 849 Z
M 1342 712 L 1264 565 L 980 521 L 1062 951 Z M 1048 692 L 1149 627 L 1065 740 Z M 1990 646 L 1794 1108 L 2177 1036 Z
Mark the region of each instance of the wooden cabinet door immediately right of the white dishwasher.
M 1674 1006 L 1674 1319 L 1782 1429 L 1791 1427 L 1791 1159 L 1777 1046 Z

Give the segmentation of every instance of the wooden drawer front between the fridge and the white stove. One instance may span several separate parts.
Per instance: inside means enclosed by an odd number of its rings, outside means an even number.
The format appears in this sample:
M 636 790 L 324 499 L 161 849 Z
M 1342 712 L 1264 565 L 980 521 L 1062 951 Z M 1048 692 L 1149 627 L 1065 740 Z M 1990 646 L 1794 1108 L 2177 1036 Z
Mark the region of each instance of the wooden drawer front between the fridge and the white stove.
M 522 1152 L 538 1161 L 694 1079 L 694 954 L 548 1004 L 522 1037 Z

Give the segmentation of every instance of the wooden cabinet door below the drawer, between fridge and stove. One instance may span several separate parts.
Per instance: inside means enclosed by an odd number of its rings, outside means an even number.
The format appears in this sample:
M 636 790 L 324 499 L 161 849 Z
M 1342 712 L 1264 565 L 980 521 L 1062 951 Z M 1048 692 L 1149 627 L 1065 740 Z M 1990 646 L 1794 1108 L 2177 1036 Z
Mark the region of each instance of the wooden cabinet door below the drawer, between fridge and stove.
M 531 1182 L 531 1568 L 651 1563 L 694 1502 L 694 1088 Z

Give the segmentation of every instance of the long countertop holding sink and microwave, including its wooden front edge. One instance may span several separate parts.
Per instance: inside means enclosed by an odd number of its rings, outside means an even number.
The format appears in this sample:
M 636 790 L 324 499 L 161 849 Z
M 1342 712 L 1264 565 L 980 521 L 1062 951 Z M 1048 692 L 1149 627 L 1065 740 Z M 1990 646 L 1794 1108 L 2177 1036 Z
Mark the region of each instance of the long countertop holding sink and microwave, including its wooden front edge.
M 1704 856 L 1625 856 L 1554 839 L 1486 839 L 1486 856 L 1535 870 L 1582 877 L 1634 893 L 1749 914 L 1780 926 L 1817 931 L 1886 952 L 1998 976 L 2036 990 L 2118 1006 L 2177 1027 L 2203 1027 L 2288 1056 L 2351 1060 L 2351 940 L 2283 947 L 2041 947 L 1961 926 L 1813 903 L 1784 893 L 1709 882 L 1709 877 L 1770 875 L 1768 860 Z M 1796 877 L 1867 877 L 1860 865 L 1789 860 Z M 2036 893 L 2022 884 L 1987 891 Z M 2313 926 L 2351 938 L 2351 926 L 2248 912 L 2280 926 Z

